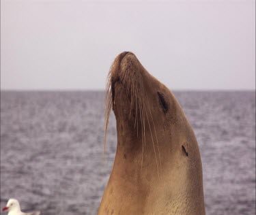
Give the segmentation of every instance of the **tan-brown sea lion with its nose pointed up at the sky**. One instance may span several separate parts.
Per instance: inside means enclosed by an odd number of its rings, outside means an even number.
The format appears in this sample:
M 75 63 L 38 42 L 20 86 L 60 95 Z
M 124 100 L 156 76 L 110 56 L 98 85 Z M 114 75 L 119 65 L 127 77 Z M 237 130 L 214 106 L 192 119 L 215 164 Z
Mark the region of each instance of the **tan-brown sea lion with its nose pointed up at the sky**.
M 106 130 L 111 109 L 117 151 L 98 214 L 205 214 L 193 129 L 169 88 L 132 52 L 119 54 L 109 71 Z

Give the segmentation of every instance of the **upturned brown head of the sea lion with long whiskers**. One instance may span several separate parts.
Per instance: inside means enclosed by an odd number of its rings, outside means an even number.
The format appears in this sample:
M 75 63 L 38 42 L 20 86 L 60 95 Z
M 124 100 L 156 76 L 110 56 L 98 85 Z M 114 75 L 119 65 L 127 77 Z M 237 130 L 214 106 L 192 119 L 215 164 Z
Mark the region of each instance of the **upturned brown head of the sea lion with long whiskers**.
M 160 167 L 160 148 L 165 146 L 160 143 L 167 142 L 183 116 L 169 88 L 154 78 L 132 52 L 122 52 L 111 66 L 106 92 L 106 129 L 112 108 L 118 142 L 135 154 L 142 154 L 144 147 L 152 144 Z

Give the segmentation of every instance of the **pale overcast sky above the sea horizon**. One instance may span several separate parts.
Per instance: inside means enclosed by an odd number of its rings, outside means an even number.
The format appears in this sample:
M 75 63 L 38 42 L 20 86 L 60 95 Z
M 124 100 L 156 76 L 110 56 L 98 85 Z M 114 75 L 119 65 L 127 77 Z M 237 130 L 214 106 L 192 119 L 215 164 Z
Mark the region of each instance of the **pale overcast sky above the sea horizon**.
M 255 89 L 255 1 L 1 0 L 1 89 L 104 89 L 123 51 L 174 90 Z

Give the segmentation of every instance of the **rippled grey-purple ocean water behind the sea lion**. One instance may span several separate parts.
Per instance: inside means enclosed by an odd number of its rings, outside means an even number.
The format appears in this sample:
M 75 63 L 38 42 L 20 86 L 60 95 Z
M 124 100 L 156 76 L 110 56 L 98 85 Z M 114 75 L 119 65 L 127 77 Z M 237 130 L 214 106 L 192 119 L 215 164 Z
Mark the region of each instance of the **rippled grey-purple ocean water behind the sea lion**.
M 197 136 L 206 214 L 255 214 L 255 92 L 174 92 Z M 103 92 L 1 92 L 1 208 L 9 198 L 42 214 L 96 214 L 105 162 Z

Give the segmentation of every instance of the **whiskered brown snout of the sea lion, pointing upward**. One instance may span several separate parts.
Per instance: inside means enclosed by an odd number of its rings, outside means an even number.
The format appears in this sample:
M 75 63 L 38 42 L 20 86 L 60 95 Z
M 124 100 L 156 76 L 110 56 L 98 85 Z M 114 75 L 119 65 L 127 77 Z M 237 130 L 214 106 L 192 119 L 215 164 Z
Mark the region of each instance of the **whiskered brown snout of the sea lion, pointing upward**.
M 144 111 L 143 73 L 143 66 L 132 52 L 118 54 L 109 71 L 109 111 L 113 110 L 117 120 L 125 120 L 132 131 L 137 131 Z

